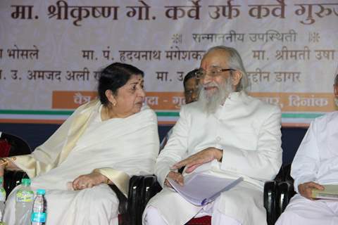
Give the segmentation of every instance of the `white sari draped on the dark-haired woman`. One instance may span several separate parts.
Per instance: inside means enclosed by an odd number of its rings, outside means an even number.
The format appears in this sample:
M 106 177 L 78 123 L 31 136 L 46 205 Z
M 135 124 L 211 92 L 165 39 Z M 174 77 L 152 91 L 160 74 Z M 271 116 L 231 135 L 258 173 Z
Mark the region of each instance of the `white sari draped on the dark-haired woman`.
M 158 154 L 157 120 L 143 108 L 127 118 L 101 121 L 93 113 L 89 125 L 60 165 L 32 178 L 32 189 L 46 189 L 47 224 L 118 224 L 118 199 L 100 184 L 82 191 L 68 183 L 97 168 L 113 168 L 128 175 L 152 174 Z M 18 188 L 18 187 L 17 187 Z M 8 196 L 4 221 L 14 224 L 15 190 Z

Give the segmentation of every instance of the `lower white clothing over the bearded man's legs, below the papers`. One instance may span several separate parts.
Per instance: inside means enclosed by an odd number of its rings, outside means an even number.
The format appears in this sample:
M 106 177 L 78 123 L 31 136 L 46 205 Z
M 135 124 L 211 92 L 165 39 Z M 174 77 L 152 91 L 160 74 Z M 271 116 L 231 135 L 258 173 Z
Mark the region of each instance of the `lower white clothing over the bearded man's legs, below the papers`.
M 150 216 L 147 214 L 149 209 Z M 149 200 L 144 211 L 143 224 L 155 224 L 153 218 L 158 218 L 156 211 L 165 224 L 185 224 L 194 217 L 205 215 L 212 217 L 212 224 L 224 224 L 225 221 L 232 221 L 232 224 L 266 224 L 263 192 L 246 182 L 223 192 L 215 202 L 204 207 L 192 205 L 172 189 L 163 188 Z

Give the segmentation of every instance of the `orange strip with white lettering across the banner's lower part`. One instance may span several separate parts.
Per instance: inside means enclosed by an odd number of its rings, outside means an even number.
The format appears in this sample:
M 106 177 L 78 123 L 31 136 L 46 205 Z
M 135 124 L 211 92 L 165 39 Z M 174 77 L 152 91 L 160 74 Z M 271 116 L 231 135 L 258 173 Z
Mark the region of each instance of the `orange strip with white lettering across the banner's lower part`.
M 332 93 L 251 93 L 283 112 L 331 112 L 335 110 Z M 96 98 L 96 91 L 53 91 L 53 109 L 75 109 Z M 154 110 L 179 110 L 184 105 L 182 92 L 147 92 L 146 103 Z

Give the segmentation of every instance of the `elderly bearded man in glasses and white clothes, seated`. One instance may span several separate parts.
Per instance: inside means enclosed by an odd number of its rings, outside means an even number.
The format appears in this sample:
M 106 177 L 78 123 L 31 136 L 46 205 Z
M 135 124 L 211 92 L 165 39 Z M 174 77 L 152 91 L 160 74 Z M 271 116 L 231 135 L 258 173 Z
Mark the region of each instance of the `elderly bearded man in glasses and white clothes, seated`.
M 201 60 L 199 100 L 182 106 L 173 134 L 156 160 L 163 190 L 149 200 L 143 224 L 185 224 L 211 215 L 211 224 L 266 224 L 263 185 L 282 164 L 280 108 L 246 94 L 248 78 L 239 53 L 215 46 Z M 168 178 L 184 185 L 184 173 L 237 179 L 215 201 L 196 206 L 173 191 Z M 197 169 L 196 169 L 197 168 Z

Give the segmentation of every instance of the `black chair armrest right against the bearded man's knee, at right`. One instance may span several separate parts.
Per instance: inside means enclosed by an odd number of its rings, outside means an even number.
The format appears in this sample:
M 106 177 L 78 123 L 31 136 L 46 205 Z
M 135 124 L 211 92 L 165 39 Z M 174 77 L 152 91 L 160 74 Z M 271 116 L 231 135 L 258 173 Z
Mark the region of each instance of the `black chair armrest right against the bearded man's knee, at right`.
M 266 221 L 268 222 L 268 225 L 273 225 L 276 221 L 276 187 L 276 181 L 266 181 L 264 184 L 263 198 L 266 210 Z

